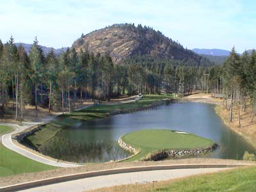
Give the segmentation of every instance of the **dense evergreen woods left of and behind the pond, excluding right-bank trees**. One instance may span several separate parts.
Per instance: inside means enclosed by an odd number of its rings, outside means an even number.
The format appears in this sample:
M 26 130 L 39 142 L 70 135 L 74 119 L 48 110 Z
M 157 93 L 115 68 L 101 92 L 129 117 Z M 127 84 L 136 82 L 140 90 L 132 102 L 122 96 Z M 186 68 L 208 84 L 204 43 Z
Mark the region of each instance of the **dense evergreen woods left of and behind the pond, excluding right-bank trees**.
M 36 38 L 29 54 L 13 38 L 0 42 L 0 61 L 1 115 L 6 106 L 12 106 L 17 120 L 22 120 L 26 104 L 35 106 L 37 116 L 38 106 L 49 112 L 71 111 L 86 99 L 101 102 L 120 95 L 161 92 L 186 95 L 202 88 L 202 75 L 209 70 L 190 61 L 149 56 L 134 56 L 117 65 L 109 54 L 74 48 L 60 56 L 53 50 L 45 55 Z

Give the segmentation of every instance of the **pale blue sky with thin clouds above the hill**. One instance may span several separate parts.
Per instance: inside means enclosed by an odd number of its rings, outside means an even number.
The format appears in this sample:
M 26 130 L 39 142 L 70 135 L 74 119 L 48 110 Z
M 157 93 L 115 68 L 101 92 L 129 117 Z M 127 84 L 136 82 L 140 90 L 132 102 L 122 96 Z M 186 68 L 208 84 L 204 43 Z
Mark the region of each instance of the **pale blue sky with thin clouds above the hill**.
M 61 48 L 117 23 L 150 26 L 188 49 L 256 48 L 253 0 L 0 0 L 0 39 Z

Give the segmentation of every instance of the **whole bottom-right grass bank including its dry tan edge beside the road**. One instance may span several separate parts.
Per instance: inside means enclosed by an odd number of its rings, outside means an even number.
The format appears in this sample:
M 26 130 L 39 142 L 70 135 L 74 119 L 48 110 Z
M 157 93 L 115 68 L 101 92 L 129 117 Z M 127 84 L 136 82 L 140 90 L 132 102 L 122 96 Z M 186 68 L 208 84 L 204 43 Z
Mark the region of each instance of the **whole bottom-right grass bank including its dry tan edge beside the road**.
M 210 192 L 210 191 L 232 191 L 232 192 L 254 192 L 256 191 L 256 166 L 250 168 L 236 168 L 219 173 L 191 176 L 185 179 L 167 180 L 154 184 L 131 184 L 116 186 L 112 188 L 97 189 L 99 192 L 117 191 L 175 191 L 175 192 Z

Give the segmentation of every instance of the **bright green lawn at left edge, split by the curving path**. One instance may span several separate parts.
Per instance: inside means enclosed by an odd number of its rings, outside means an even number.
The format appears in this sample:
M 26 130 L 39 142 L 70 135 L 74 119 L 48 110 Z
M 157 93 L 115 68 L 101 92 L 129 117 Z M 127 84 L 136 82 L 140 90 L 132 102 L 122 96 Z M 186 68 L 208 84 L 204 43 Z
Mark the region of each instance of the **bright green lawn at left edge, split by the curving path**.
M 12 127 L 0 125 L 0 135 L 11 132 Z M 0 177 L 19 173 L 41 172 L 55 167 L 38 163 L 4 147 L 0 143 Z

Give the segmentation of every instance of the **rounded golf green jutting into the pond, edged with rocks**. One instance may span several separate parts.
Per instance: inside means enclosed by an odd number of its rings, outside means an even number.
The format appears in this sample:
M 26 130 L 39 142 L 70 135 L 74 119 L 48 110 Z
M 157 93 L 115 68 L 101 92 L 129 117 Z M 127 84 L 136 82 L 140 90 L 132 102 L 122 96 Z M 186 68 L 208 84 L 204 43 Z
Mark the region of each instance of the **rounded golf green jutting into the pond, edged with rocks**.
M 137 150 L 136 156 L 125 161 L 136 161 L 148 154 L 164 150 L 211 147 L 214 142 L 195 134 L 175 132 L 167 129 L 143 129 L 122 136 L 121 140 Z

